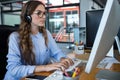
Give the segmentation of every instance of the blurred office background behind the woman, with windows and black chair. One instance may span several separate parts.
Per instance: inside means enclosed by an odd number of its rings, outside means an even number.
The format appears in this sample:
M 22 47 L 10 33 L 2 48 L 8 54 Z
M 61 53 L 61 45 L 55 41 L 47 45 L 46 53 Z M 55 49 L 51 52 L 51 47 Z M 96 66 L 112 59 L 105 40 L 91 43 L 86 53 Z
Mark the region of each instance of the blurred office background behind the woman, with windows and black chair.
M 19 27 L 21 8 L 27 1 L 0 0 L 0 79 L 7 64 L 7 38 Z M 104 9 L 106 3 L 106 0 L 38 1 L 46 6 L 46 28 L 66 54 L 74 50 L 74 43 L 83 42 L 86 46 L 86 11 Z

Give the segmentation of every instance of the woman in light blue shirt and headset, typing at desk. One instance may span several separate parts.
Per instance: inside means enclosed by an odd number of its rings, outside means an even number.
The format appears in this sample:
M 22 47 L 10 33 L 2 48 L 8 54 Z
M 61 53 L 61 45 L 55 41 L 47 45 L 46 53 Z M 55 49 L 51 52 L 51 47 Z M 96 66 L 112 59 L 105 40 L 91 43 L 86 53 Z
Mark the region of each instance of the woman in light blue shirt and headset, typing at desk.
M 45 29 L 45 12 L 45 5 L 40 1 L 29 1 L 23 6 L 19 30 L 9 37 L 8 71 L 4 80 L 20 80 L 35 72 L 64 70 L 73 64 Z M 50 64 L 51 58 L 57 62 Z

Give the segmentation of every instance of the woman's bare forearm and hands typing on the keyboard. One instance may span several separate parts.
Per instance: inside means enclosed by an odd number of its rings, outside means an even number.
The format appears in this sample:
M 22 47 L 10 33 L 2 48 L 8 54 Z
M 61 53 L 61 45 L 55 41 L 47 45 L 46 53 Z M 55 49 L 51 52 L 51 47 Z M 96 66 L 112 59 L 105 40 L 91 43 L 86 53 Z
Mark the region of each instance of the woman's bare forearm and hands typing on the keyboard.
M 47 65 L 40 65 L 36 66 L 34 72 L 41 72 L 41 71 L 54 71 L 54 70 L 62 70 L 69 68 L 69 66 L 73 65 L 73 61 L 70 58 L 61 58 L 60 62 L 47 64 Z

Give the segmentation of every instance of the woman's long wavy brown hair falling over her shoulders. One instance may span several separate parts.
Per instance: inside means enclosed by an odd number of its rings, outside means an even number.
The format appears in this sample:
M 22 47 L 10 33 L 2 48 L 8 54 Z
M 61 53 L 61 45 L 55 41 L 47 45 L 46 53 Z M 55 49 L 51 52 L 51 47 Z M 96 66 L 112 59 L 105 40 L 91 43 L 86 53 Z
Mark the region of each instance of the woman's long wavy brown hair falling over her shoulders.
M 18 30 L 19 38 L 20 38 L 20 49 L 21 49 L 21 56 L 22 59 L 26 64 L 34 65 L 35 62 L 35 54 L 33 52 L 33 43 L 30 37 L 31 34 L 31 24 L 30 22 L 26 21 L 25 16 L 31 15 L 33 11 L 37 8 L 38 5 L 45 5 L 40 1 L 28 1 L 22 8 L 21 12 L 21 24 Z M 31 17 L 31 16 L 30 16 Z M 47 32 L 44 27 L 39 29 L 42 32 L 43 37 L 45 39 L 45 44 L 47 46 L 48 38 Z

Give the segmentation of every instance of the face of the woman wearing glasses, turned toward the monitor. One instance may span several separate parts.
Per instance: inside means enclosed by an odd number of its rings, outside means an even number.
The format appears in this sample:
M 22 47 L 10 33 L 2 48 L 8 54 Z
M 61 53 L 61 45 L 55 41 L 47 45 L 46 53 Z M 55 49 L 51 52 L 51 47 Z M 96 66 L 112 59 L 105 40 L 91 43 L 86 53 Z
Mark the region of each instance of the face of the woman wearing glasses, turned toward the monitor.
M 44 27 L 45 25 L 45 7 L 43 5 L 38 5 L 38 7 L 34 10 L 32 17 L 31 25 L 32 27 Z

